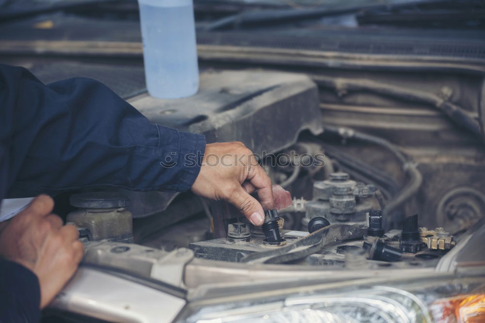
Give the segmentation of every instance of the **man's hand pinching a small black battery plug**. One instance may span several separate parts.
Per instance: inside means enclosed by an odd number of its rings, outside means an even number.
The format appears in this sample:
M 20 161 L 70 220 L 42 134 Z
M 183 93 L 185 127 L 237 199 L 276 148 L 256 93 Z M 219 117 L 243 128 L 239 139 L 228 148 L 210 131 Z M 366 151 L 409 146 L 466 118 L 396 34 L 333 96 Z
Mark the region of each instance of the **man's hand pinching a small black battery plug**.
M 261 203 L 251 193 L 258 190 Z M 254 225 L 262 225 L 264 211 L 273 209 L 271 180 L 242 142 L 206 145 L 200 173 L 192 191 L 211 200 L 226 200 Z

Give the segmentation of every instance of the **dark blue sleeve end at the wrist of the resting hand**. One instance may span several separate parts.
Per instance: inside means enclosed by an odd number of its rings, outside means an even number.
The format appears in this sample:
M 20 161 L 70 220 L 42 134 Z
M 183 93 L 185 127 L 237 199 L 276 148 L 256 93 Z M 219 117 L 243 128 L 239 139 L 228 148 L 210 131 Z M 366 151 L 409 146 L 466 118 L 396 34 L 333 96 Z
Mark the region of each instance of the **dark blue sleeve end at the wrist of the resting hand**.
M 36 323 L 39 320 L 37 276 L 16 262 L 0 259 L 0 322 Z

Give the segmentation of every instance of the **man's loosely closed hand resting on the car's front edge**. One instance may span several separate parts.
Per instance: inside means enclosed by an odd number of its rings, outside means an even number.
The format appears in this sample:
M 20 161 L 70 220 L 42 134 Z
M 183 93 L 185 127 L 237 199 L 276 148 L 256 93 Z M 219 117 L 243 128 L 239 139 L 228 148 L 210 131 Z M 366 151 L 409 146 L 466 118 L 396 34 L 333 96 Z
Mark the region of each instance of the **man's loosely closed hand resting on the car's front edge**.
M 0 232 L 0 257 L 30 269 L 40 284 L 40 308 L 46 307 L 74 275 L 83 255 L 75 226 L 63 226 L 51 214 L 54 201 L 40 195 Z

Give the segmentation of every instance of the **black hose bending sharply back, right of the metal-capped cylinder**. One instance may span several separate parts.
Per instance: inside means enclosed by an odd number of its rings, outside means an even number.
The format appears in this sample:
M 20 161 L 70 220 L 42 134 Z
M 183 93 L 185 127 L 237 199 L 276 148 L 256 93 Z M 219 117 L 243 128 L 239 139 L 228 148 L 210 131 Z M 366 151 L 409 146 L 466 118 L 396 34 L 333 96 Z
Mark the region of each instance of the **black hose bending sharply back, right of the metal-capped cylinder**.
M 416 167 L 416 164 L 408 160 L 408 158 L 399 150 L 399 148 L 390 143 L 388 140 L 368 135 L 347 127 L 324 124 L 323 129 L 325 132 L 339 135 L 342 138 L 354 138 L 385 147 L 402 163 L 404 172 L 408 176 L 409 180 L 400 190 L 400 192 L 386 205 L 386 208 L 383 210 L 384 213 L 390 214 L 419 190 L 422 184 L 422 175 Z

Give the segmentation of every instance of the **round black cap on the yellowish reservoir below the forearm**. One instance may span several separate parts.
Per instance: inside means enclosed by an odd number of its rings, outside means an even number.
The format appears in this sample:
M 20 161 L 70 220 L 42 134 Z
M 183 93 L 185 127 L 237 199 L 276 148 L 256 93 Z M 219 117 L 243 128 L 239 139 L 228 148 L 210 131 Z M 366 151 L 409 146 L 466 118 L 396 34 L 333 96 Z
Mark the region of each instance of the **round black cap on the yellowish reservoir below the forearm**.
M 84 209 L 111 209 L 129 206 L 129 199 L 118 192 L 90 192 L 71 195 L 69 203 Z

